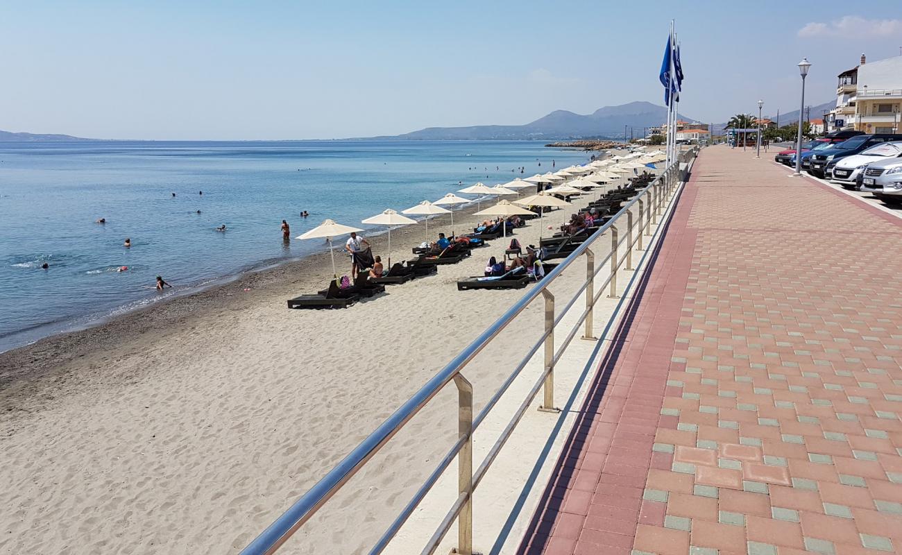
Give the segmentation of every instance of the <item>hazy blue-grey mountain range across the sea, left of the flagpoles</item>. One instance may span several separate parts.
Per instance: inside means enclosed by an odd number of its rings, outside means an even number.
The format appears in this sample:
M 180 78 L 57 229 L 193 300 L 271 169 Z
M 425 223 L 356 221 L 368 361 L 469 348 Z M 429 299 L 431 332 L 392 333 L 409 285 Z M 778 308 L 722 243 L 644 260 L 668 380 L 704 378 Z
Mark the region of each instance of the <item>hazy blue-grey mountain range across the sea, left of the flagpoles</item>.
M 680 116 L 681 119 L 690 119 Z M 555 110 L 526 125 L 472 125 L 469 127 L 427 127 L 411 133 L 371 137 L 383 140 L 419 139 L 449 140 L 520 140 L 520 139 L 584 139 L 623 138 L 623 126 L 632 127 L 642 136 L 643 127 L 653 127 L 667 120 L 667 107 L 650 102 L 630 102 L 621 106 L 605 106 L 583 116 L 566 110 Z M 629 131 L 627 131 L 629 134 Z

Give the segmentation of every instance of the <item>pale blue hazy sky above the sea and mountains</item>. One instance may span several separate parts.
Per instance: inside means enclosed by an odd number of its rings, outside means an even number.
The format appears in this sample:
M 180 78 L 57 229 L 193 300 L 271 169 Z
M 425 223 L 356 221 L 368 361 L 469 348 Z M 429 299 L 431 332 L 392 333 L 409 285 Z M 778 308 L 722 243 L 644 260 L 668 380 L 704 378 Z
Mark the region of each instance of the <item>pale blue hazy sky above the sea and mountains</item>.
M 835 98 L 836 75 L 900 54 L 899 0 L 0 0 L 0 129 L 261 140 L 520 125 L 663 104 L 676 20 L 680 113 L 723 122 Z M 812 116 L 814 117 L 814 115 Z

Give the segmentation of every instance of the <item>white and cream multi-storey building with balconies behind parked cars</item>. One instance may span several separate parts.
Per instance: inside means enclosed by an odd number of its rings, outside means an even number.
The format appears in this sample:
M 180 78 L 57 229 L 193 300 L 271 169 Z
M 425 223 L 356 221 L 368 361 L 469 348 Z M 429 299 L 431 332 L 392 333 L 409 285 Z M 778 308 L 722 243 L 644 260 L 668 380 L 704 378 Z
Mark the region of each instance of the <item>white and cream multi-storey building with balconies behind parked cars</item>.
M 827 131 L 902 132 L 902 56 L 867 63 L 861 54 L 859 65 L 837 78 L 836 107 L 827 115 Z

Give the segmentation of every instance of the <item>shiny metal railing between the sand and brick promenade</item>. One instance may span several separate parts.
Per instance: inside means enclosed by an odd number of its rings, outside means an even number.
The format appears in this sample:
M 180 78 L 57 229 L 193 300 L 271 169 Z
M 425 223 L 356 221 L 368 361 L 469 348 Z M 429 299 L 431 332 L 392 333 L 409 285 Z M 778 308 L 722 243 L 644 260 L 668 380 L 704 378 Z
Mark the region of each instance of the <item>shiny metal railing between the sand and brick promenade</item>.
M 689 151 L 682 153 L 680 160 L 689 161 L 695 158 L 698 148 L 695 147 Z M 455 523 L 458 523 L 458 537 L 456 553 L 461 555 L 472 555 L 473 553 L 473 492 L 476 486 L 482 481 L 488 472 L 492 461 L 501 452 L 502 447 L 511 437 L 513 430 L 518 422 L 529 409 L 529 405 L 538 395 L 539 390 L 543 390 L 543 397 L 539 411 L 559 412 L 554 406 L 554 372 L 555 365 L 564 355 L 566 348 L 579 332 L 579 328 L 584 328 L 583 337 L 594 339 L 593 337 L 593 311 L 595 303 L 601 298 L 606 288 L 608 288 L 608 297 L 617 298 L 617 272 L 621 265 L 625 269 L 632 269 L 632 251 L 634 247 L 643 250 L 643 236 L 651 236 L 652 225 L 658 223 L 658 217 L 666 211 L 667 206 L 665 199 L 672 198 L 676 191 L 676 184 L 683 177 L 679 167 L 679 162 L 671 164 L 663 171 L 648 187 L 630 199 L 620 211 L 615 214 L 610 221 L 600 227 L 591 237 L 583 244 L 578 245 L 575 250 L 569 254 L 563 262 L 551 270 L 537 285 L 531 288 L 520 301 L 517 301 L 509 310 L 507 310 L 501 318 L 495 321 L 492 326 L 485 329 L 482 334 L 463 351 L 461 351 L 454 359 L 451 360 L 441 371 L 423 385 L 417 393 L 414 393 L 407 402 L 401 404 L 397 411 L 373 431 L 364 441 L 357 446 L 350 454 L 348 454 L 336 467 L 332 468 L 326 476 L 311 487 L 306 494 L 291 505 L 291 507 L 276 519 L 266 530 L 264 530 L 256 539 L 254 539 L 244 550 L 242 555 L 269 555 L 278 550 L 281 545 L 288 541 L 294 532 L 306 523 L 320 507 L 336 494 L 336 492 L 345 485 L 345 483 L 354 476 L 361 467 L 363 467 L 370 458 L 373 458 L 382 446 L 385 445 L 398 431 L 413 418 L 433 397 L 441 391 L 446 384 L 454 382 L 457 388 L 457 434 L 458 439 L 442 458 L 435 470 L 428 476 L 426 482 L 419 487 L 417 492 L 410 499 L 410 502 L 401 509 L 398 516 L 391 523 L 388 529 L 376 541 L 373 548 L 369 551 L 371 555 L 381 553 L 401 526 L 407 522 L 410 514 L 414 512 L 419 503 L 428 494 L 429 490 L 436 484 L 439 477 L 445 472 L 446 468 L 455 460 L 457 464 L 457 491 L 458 495 L 454 504 L 446 513 L 441 523 L 438 525 L 436 532 L 429 539 L 426 547 L 423 548 L 422 554 L 428 555 L 433 553 L 438 544 L 445 537 L 446 532 Z M 633 208 L 636 213 L 633 213 Z M 622 226 L 621 218 L 627 219 L 624 232 L 620 232 L 618 226 Z M 638 219 L 638 226 L 634 226 L 634 220 Z M 638 227 L 638 229 L 634 229 Z M 594 253 L 592 246 L 601 240 L 607 232 L 611 232 L 611 253 L 608 254 L 598 266 L 595 266 Z M 625 253 L 621 254 L 621 246 L 626 245 Z M 638 246 L 637 246 L 638 245 Z M 553 283 L 557 277 L 563 273 L 568 266 L 574 264 L 576 259 L 585 254 L 586 257 L 586 278 L 582 286 L 575 292 L 570 301 L 557 312 L 555 311 L 555 297 L 548 291 L 548 285 Z M 597 291 L 595 291 L 595 277 L 610 262 L 608 266 L 610 272 L 604 279 Z M 582 293 L 584 294 L 585 309 L 577 319 L 575 326 L 569 330 L 564 342 L 557 351 L 555 349 L 555 328 L 557 324 L 564 319 L 568 310 L 579 301 Z M 520 363 L 509 375 L 492 398 L 486 402 L 483 410 L 474 418 L 473 413 L 473 385 L 461 374 L 465 365 L 478 355 L 484 347 L 488 346 L 492 339 L 498 336 L 504 328 L 506 328 L 513 319 L 515 319 L 523 310 L 529 306 L 532 301 L 541 296 L 545 304 L 544 331 L 538 338 L 538 341 L 529 348 L 529 351 L 520 360 Z M 613 318 L 613 316 L 612 316 Z M 520 372 L 529 363 L 529 360 L 538 352 L 539 348 L 544 347 L 544 371 L 539 376 L 537 382 L 530 388 L 526 399 L 520 403 L 517 411 L 514 412 L 511 421 L 502 430 L 501 436 L 495 441 L 492 448 L 489 449 L 483 463 L 476 471 L 473 471 L 473 435 L 479 425 L 485 420 L 486 416 L 492 408 L 501 399 L 514 380 L 520 375 Z

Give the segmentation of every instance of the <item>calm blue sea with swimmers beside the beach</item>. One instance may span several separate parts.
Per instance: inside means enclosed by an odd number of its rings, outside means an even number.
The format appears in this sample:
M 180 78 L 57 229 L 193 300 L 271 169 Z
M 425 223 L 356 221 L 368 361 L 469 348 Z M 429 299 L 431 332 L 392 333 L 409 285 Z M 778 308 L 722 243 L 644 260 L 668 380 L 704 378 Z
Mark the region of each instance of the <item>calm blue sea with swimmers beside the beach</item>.
M 282 219 L 292 237 L 327 217 L 365 227 L 458 181 L 587 159 L 538 142 L 0 143 L 0 351 L 324 248 L 284 244 Z

